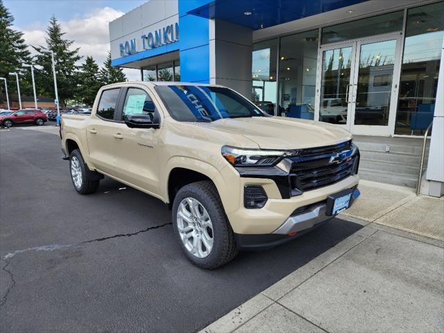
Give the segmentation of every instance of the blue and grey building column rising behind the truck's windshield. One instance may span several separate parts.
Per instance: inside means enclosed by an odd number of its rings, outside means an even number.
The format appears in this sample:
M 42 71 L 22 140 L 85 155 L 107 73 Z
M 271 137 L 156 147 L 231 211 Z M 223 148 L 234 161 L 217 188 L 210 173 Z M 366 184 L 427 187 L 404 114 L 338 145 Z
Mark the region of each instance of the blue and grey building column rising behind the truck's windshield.
M 179 1 L 180 80 L 225 85 L 251 99 L 253 30 L 188 14 Z

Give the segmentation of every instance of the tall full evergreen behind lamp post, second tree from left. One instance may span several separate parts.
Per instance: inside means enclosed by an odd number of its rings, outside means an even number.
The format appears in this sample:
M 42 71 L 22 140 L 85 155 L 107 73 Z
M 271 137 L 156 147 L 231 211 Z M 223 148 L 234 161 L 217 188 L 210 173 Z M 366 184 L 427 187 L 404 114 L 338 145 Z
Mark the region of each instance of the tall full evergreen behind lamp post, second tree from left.
M 46 35 L 46 49 L 54 53 L 58 96 L 60 106 L 63 107 L 65 101 L 72 99 L 76 92 L 78 83 L 78 66 L 76 62 L 82 57 L 78 55 L 78 49 L 71 50 L 74 41 L 63 38 L 65 33 L 62 33 L 62 28 L 54 16 L 49 20 Z M 41 93 L 56 96 L 54 92 L 54 82 L 52 80 L 51 53 L 43 53 L 42 49 L 45 49 L 44 46 L 33 46 L 33 48 L 39 53 L 39 55 L 37 55 L 37 63 L 43 67 L 37 71 L 37 87 L 41 87 L 39 89 Z

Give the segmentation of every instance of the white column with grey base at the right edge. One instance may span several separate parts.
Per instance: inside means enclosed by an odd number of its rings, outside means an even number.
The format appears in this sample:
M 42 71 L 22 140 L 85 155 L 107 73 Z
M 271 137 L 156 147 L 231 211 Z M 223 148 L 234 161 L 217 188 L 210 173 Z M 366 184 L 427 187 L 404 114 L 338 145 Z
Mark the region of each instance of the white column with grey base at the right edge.
M 442 196 L 444 194 L 444 39 L 426 178 L 429 180 L 429 196 Z

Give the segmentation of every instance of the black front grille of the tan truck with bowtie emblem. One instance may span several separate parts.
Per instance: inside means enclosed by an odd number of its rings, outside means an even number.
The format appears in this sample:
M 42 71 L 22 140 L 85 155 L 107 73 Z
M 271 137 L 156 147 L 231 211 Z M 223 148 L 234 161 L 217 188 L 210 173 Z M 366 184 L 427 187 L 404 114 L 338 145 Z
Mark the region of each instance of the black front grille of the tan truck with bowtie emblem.
M 292 193 L 300 194 L 302 191 L 332 185 L 357 173 L 359 153 L 347 156 L 343 160 L 335 158 L 350 149 L 352 149 L 351 140 L 334 146 L 302 150 L 297 157 L 291 159 Z

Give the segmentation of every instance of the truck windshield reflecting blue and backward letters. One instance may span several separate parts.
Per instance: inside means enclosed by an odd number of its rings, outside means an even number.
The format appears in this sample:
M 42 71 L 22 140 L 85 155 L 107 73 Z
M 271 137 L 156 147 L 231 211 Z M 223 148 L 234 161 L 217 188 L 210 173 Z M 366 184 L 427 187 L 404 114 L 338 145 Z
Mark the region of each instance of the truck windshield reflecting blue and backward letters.
M 264 112 L 228 88 L 196 85 L 156 86 L 164 104 L 178 121 L 266 117 Z

